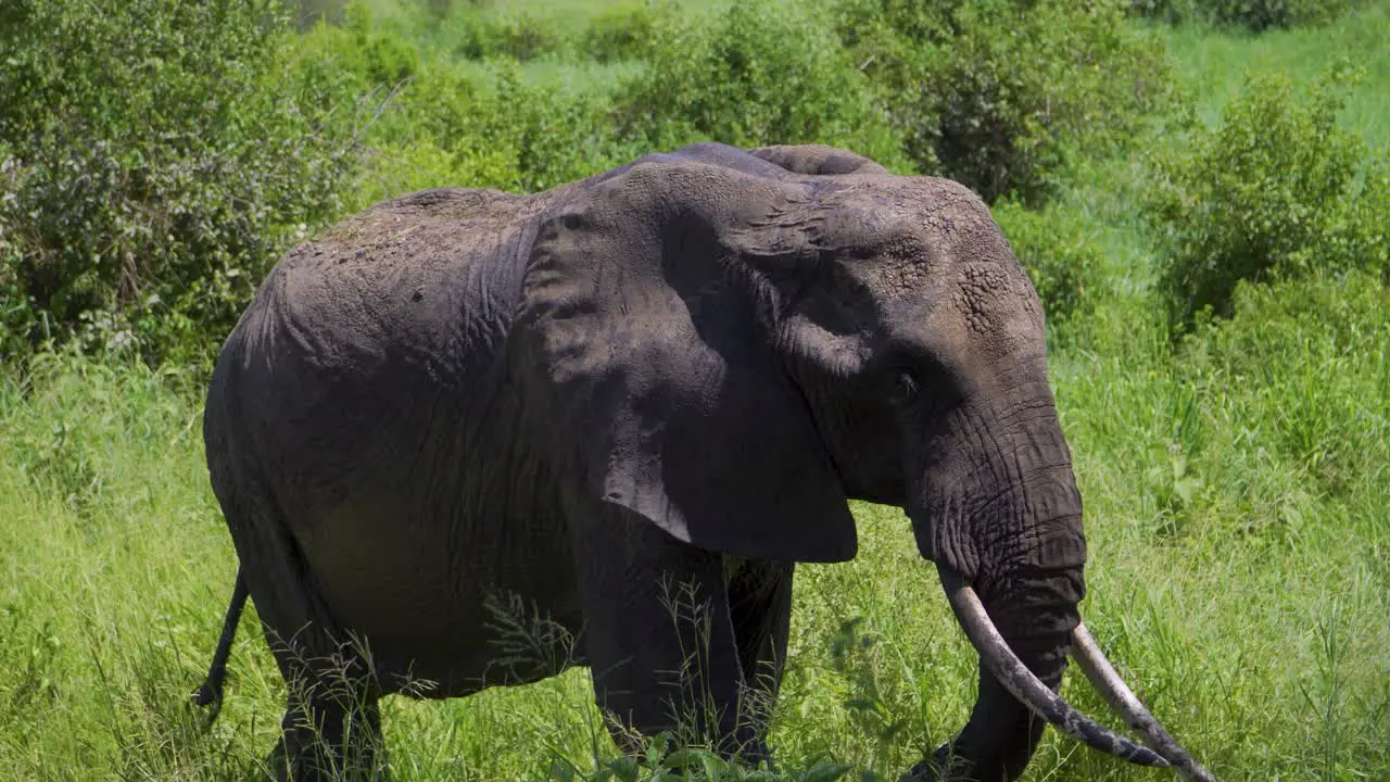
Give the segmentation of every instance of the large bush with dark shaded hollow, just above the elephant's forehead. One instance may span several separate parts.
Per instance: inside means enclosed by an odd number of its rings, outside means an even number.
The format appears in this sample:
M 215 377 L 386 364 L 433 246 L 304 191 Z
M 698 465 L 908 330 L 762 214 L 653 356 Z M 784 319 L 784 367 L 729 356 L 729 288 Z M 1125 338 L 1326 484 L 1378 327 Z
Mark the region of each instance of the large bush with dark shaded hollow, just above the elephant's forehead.
M 1073 153 L 1122 143 L 1169 95 L 1162 42 L 1118 0 L 841 0 L 837 17 L 908 157 L 988 202 L 1040 200 Z

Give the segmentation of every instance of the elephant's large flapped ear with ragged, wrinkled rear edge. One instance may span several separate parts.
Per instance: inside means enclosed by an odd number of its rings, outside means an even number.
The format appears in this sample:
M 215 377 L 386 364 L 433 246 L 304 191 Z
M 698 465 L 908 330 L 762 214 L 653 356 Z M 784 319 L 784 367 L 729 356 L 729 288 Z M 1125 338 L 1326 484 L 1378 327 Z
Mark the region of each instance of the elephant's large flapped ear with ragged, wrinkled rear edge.
M 518 358 L 594 498 L 710 551 L 837 562 L 856 551 L 841 479 L 742 269 L 746 220 L 784 189 L 662 163 L 562 195 L 528 259 Z M 776 231 L 771 252 L 794 253 L 798 227 Z

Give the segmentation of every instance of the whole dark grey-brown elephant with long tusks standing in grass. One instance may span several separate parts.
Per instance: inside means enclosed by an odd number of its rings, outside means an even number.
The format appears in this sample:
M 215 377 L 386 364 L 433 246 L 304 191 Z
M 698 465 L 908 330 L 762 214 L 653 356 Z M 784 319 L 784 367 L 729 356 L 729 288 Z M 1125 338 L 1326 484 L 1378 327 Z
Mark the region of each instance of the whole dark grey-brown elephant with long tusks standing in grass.
M 196 697 L 221 703 L 250 597 L 291 683 L 284 776 L 352 737 L 384 772 L 385 694 L 569 665 L 627 751 L 680 728 L 770 763 L 795 564 L 852 559 L 860 500 L 903 509 L 980 654 L 969 721 L 912 779 L 1015 779 L 1047 724 L 1211 779 L 1080 621 L 1042 308 L 956 182 L 701 143 L 541 193 L 396 198 L 271 270 L 203 427 L 239 568 Z M 569 654 L 518 662 L 499 604 Z M 1147 746 L 1056 694 L 1068 655 Z

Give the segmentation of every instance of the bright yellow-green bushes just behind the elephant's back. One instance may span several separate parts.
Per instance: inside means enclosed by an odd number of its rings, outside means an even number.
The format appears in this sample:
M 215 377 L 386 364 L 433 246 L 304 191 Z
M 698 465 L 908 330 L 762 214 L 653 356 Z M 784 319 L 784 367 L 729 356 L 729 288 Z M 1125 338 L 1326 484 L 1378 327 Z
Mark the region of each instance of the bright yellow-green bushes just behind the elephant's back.
M 346 24 L 306 35 L 295 61 L 297 79 L 336 95 L 334 103 L 385 100 L 363 120 L 367 153 L 350 209 L 443 185 L 538 191 L 639 154 L 613 132 L 606 93 L 527 85 L 507 57 L 482 68 L 428 58 L 360 4 L 348 7 Z

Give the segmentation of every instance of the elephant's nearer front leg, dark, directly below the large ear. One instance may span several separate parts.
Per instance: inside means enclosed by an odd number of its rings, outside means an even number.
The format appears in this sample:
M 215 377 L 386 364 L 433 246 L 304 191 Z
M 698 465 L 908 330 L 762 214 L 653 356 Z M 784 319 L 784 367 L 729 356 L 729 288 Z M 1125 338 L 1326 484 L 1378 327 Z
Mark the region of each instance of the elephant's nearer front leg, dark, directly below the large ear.
M 744 673 L 723 558 L 619 513 L 571 525 L 585 657 L 614 740 L 641 754 L 642 737 L 673 731 L 727 757 L 764 754 L 739 721 Z

